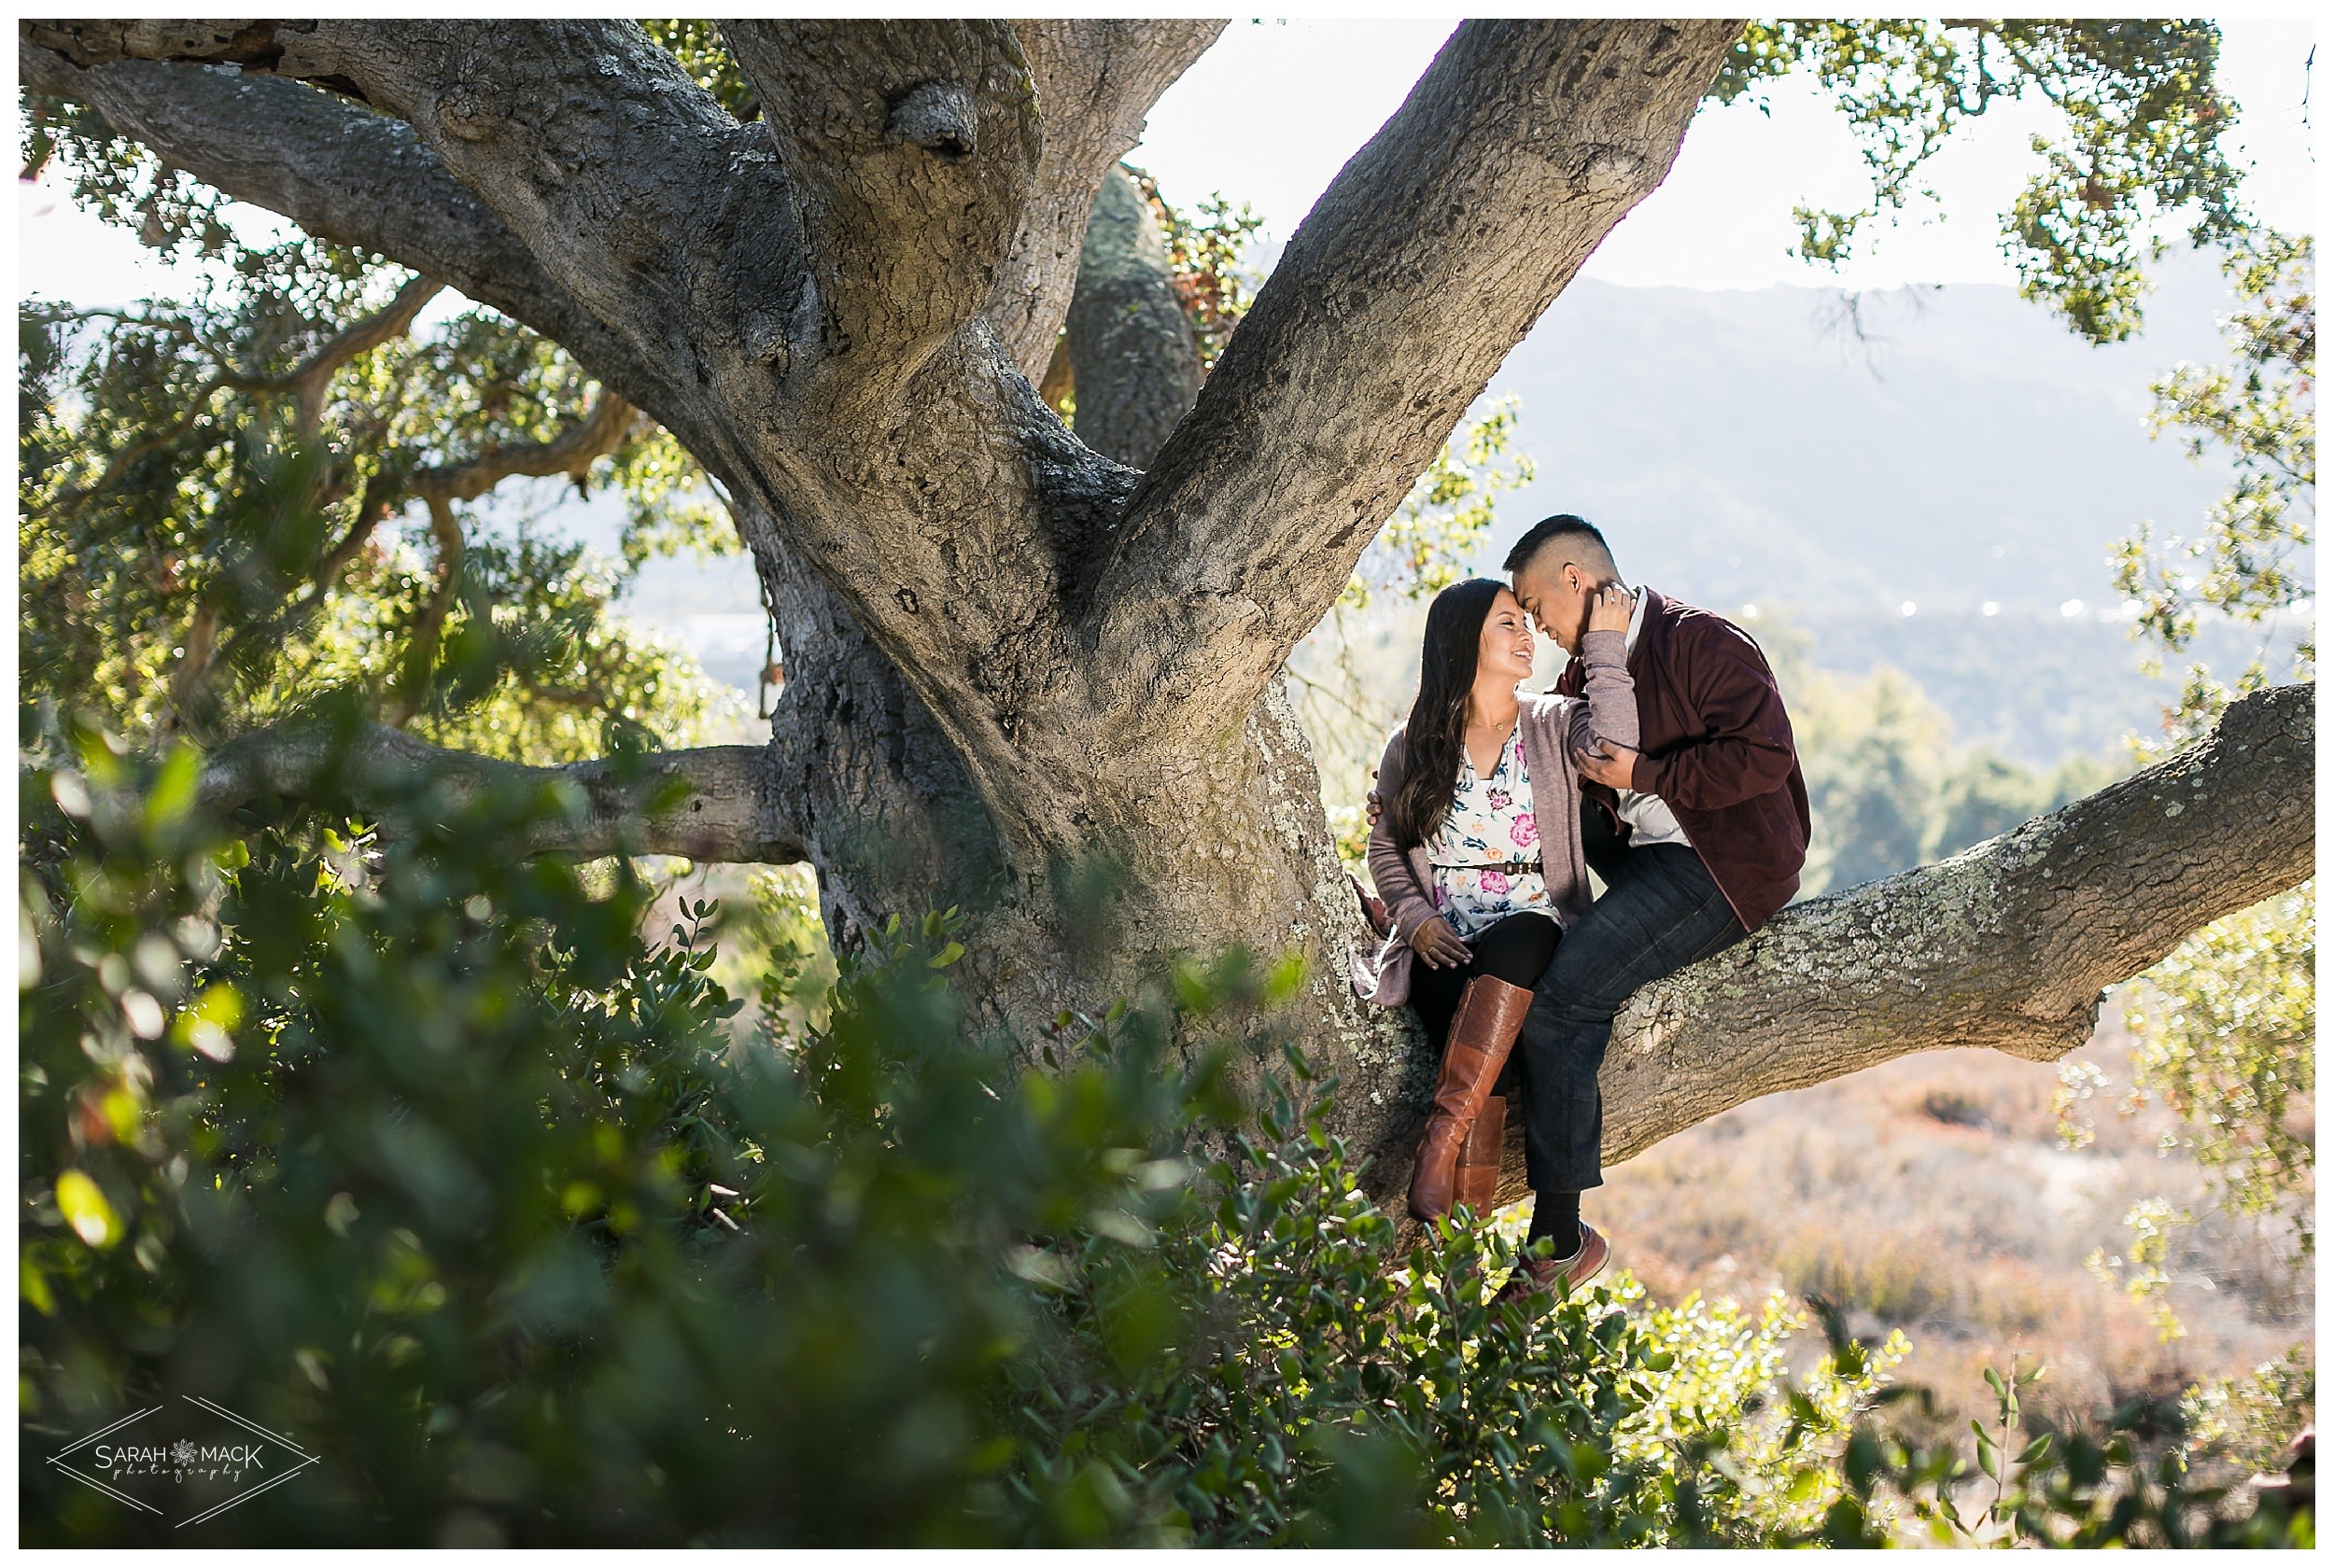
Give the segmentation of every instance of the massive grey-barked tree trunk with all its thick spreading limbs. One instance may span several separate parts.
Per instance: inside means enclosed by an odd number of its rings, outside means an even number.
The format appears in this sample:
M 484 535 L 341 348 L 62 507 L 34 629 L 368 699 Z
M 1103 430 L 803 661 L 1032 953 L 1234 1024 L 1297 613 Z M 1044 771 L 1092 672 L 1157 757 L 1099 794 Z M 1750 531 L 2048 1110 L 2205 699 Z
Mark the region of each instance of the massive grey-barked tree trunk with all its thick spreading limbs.
M 584 803 L 537 847 L 803 856 L 843 940 L 955 903 L 969 994 L 1032 1045 L 1179 959 L 1295 952 L 1305 987 L 1249 1024 L 1340 1073 L 1337 1129 L 1396 1190 L 1431 1057 L 1344 982 L 1368 933 L 1281 663 L 1662 180 L 1739 23 L 1461 26 L 1146 474 L 1029 378 L 1067 236 L 1207 26 L 724 33 L 752 126 L 623 21 L 28 21 L 19 63 L 560 341 L 724 485 L 787 642 L 770 747 L 663 761 L 672 800 L 569 770 Z M 215 758 L 208 793 L 315 784 L 280 740 Z M 1650 987 L 1608 1153 L 1905 1050 L 2063 1050 L 2101 985 L 2308 873 L 2308 740 L 2306 693 L 2252 698 L 2203 751 Z

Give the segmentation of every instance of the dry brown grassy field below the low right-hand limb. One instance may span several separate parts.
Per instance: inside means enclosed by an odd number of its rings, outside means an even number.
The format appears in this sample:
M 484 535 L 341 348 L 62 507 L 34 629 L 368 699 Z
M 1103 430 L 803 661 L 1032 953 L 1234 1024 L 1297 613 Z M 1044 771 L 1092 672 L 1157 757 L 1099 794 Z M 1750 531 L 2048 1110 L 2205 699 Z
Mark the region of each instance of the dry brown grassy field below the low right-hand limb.
M 2129 1050 L 2110 1015 L 2077 1059 L 2122 1090 Z M 2096 1141 L 2061 1148 L 2056 1087 L 2054 1066 L 2000 1052 L 1907 1057 L 1694 1127 L 1606 1171 L 1582 1211 L 1657 1300 L 1783 1286 L 1839 1302 L 1858 1335 L 1902 1328 L 1898 1377 L 1937 1393 L 1935 1430 L 1968 1430 L 1984 1367 L 2012 1356 L 2049 1367 L 2031 1402 L 2080 1421 L 2313 1342 L 2285 1232 L 2210 1218 L 2194 1162 L 2159 1150 L 2161 1113 L 2101 1106 Z M 2124 1253 L 2124 1213 L 2152 1195 L 2208 1216 L 2178 1232 L 2168 1300 L 2187 1335 L 2171 1342 L 2084 1267 Z

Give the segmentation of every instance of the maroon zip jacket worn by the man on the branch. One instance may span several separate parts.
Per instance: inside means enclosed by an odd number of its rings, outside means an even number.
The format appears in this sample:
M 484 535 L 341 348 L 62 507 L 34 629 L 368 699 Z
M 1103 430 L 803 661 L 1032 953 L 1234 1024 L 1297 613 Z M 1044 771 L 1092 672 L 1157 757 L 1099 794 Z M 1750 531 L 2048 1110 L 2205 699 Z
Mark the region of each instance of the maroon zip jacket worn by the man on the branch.
M 1580 677 L 1575 658 L 1557 691 L 1578 698 Z M 1662 798 L 1734 917 L 1758 931 L 1800 891 L 1809 833 L 1807 779 L 1767 656 L 1725 616 L 1645 588 L 1629 679 L 1641 742 L 1629 786 Z M 1617 814 L 1610 786 L 1580 779 L 1580 793 Z

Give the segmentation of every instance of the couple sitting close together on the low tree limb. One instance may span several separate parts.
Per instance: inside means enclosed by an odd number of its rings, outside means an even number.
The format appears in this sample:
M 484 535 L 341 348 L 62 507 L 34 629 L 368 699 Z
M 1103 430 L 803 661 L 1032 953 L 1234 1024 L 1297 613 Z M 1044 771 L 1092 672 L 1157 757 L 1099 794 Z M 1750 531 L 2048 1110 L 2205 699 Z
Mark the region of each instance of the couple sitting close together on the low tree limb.
M 1419 698 L 1370 793 L 1384 947 L 1356 987 L 1442 1043 L 1419 1218 L 1489 1213 L 1522 1097 L 1531 1246 L 1498 1295 L 1522 1302 L 1610 1253 L 1580 1195 L 1603 1183 L 1613 1015 L 1790 901 L 1809 817 L 1783 693 L 1741 628 L 1624 588 L 1575 516 L 1536 523 L 1505 567 L 1426 611 Z M 1517 693 L 1533 628 L 1571 653 L 1552 693 Z

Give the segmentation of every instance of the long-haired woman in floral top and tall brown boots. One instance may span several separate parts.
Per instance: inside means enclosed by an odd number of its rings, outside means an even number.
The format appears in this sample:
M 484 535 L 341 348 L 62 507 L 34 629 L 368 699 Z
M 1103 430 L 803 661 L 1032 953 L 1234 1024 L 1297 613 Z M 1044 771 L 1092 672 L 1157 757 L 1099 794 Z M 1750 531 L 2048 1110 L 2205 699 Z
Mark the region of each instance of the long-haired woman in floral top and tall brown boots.
M 1589 905 L 1573 751 L 1596 740 L 1636 749 L 1631 607 L 1617 586 L 1592 602 L 1585 700 L 1517 695 L 1531 677 L 1531 621 L 1505 583 L 1456 583 L 1426 611 L 1419 698 L 1377 765 L 1384 810 L 1370 828 L 1370 875 L 1393 929 L 1356 975 L 1363 996 L 1407 1001 L 1442 1041 L 1410 1178 L 1421 1220 L 1459 1202 L 1491 1209 L 1508 1113 L 1491 1090 L 1564 922 Z M 1531 1237 L 1557 1258 L 1582 1255 L 1589 1234 L 1578 1192 L 1538 1195 Z

